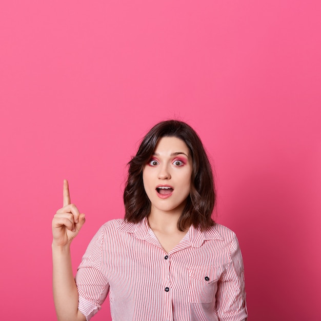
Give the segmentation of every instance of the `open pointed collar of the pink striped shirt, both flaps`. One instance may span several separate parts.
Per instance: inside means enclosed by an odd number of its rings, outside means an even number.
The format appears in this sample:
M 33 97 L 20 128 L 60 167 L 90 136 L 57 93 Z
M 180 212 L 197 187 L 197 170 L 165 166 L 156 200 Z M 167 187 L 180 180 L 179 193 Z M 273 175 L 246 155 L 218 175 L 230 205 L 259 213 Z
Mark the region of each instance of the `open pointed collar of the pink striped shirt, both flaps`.
M 136 224 L 123 221 L 123 224 L 121 224 L 117 229 L 119 231 L 132 233 L 136 238 L 145 240 L 150 227 L 148 225 L 147 217 L 145 217 L 141 222 Z M 195 228 L 192 225 L 189 228 L 189 239 L 192 247 L 199 248 L 205 240 L 223 240 L 224 238 L 216 230 L 215 225 L 206 231 L 201 231 L 199 228 Z

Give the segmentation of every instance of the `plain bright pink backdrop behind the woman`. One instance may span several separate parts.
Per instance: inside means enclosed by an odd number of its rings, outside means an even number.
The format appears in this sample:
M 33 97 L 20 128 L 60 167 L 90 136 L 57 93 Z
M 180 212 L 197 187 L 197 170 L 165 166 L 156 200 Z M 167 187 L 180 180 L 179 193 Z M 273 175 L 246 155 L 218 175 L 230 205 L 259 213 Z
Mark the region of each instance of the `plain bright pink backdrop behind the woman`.
M 158 121 L 199 133 L 217 221 L 242 248 L 249 320 L 320 319 L 320 2 L 2 1 L 0 311 L 55 320 L 63 179 L 95 231 L 123 217 L 126 164 Z M 94 320 L 110 320 L 106 301 Z

